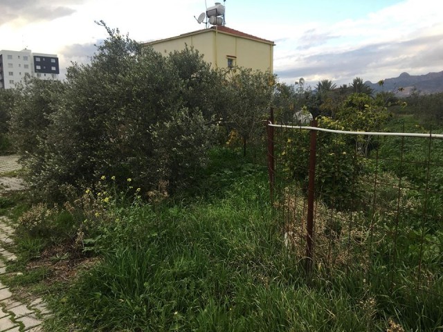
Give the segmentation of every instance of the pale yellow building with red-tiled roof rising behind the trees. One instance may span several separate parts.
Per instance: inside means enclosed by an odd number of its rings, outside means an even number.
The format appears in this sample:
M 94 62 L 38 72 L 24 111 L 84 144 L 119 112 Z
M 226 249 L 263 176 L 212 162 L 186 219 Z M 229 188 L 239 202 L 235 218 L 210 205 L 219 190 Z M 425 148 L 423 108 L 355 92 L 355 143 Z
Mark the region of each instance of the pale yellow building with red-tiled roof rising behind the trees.
M 188 45 L 204 55 L 204 60 L 213 68 L 240 66 L 273 72 L 273 42 L 226 26 L 213 26 L 143 45 L 152 46 L 164 55 Z

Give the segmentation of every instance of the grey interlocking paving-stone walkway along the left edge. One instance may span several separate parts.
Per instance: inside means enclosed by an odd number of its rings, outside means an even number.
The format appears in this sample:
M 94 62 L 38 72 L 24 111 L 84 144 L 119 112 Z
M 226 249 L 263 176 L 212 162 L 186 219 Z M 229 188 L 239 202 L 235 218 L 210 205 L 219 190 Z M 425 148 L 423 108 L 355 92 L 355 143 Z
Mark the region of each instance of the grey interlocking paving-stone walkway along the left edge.
M 20 169 L 17 156 L 0 156 L 0 176 L 6 172 Z M 19 178 L 0 177 L 0 196 L 10 190 L 24 189 L 24 183 Z M 14 228 L 10 219 L 0 216 L 0 275 L 6 273 L 8 261 L 15 261 L 14 253 L 6 250 L 13 244 Z M 37 298 L 30 304 L 20 302 L 11 293 L 8 286 L 0 282 L 0 332 L 37 332 L 42 331 L 40 325 L 48 309 L 42 298 Z

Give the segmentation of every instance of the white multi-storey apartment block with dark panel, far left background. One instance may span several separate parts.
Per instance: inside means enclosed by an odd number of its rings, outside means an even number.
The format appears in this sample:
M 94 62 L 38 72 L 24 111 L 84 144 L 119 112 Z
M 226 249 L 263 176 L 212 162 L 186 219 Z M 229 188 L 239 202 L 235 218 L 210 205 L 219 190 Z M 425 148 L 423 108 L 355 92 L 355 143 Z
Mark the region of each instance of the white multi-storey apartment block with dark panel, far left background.
M 24 77 L 58 80 L 60 66 L 55 54 L 31 50 L 0 50 L 0 89 L 15 88 Z

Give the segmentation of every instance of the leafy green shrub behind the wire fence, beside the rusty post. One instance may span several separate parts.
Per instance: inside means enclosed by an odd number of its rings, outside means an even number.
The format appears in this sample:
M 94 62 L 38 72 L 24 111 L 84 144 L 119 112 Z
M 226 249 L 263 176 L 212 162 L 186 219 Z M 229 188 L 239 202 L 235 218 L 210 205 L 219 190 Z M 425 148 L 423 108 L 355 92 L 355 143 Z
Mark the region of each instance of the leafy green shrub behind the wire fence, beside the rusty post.
M 337 129 L 336 122 L 322 118 L 319 127 Z M 287 181 L 299 183 L 307 193 L 309 178 L 309 131 L 285 131 L 280 156 Z M 359 209 L 361 190 L 356 185 L 363 175 L 363 160 L 355 153 L 348 138 L 332 133 L 317 133 L 316 178 L 317 196 L 338 210 Z

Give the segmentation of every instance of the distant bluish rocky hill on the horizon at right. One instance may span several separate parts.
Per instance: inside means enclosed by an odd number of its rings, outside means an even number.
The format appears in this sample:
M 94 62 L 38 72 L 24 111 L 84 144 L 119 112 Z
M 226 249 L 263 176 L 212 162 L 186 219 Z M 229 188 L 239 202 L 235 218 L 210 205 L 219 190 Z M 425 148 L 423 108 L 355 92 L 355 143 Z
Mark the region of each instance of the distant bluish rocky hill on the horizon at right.
M 426 75 L 409 75 L 408 73 L 401 73 L 399 77 L 386 78 L 383 86 L 380 86 L 377 82 L 372 83 L 370 81 L 365 82 L 375 92 L 377 91 L 397 91 L 400 87 L 403 91 L 398 91 L 396 94 L 399 96 L 407 96 L 417 89 L 421 93 L 437 93 L 443 92 L 443 71 L 440 73 L 428 73 Z

